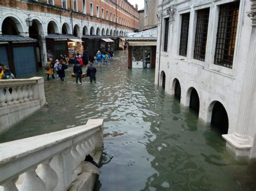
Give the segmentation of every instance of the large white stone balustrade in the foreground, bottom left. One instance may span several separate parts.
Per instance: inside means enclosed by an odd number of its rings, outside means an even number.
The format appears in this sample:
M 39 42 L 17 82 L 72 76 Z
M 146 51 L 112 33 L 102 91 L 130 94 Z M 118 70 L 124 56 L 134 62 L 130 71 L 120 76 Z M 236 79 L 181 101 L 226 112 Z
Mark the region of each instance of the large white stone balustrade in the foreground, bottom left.
M 89 175 L 83 175 L 83 161 L 92 152 L 101 154 L 102 146 L 103 119 L 89 119 L 77 128 L 2 143 L 0 185 L 5 191 L 91 190 L 86 187 Z

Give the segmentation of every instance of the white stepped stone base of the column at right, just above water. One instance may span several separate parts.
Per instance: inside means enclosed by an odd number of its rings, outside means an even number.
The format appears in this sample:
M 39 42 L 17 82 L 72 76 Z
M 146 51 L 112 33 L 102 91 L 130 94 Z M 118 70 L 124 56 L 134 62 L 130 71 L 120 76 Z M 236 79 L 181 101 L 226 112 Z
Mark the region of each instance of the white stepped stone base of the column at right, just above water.
M 235 153 L 237 157 L 250 157 L 250 151 L 252 144 L 250 138 L 247 135 L 241 135 L 239 133 L 232 133 L 222 135 L 226 140 L 226 146 Z

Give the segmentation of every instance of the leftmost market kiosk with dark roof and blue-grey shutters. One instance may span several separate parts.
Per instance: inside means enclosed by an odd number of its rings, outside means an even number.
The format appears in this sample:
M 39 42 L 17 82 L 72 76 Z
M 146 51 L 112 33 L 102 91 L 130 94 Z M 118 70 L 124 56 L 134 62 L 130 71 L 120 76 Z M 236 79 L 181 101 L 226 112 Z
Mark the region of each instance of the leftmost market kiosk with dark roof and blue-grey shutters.
M 0 37 L 0 62 L 17 77 L 38 70 L 36 39 L 16 35 Z

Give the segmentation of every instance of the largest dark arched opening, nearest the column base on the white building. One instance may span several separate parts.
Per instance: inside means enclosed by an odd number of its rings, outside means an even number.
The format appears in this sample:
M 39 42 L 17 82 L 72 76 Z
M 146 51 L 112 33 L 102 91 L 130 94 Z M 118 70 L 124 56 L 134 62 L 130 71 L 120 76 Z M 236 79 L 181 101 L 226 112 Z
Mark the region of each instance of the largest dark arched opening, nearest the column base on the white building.
M 214 128 L 221 132 L 221 134 L 227 134 L 228 132 L 228 116 L 227 111 L 223 104 L 215 102 L 212 109 L 211 124 Z

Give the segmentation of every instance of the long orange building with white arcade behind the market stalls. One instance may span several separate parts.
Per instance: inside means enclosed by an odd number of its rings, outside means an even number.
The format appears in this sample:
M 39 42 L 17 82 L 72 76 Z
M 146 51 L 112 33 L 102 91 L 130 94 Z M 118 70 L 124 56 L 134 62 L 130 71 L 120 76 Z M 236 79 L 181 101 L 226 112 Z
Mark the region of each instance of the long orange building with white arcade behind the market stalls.
M 17 62 L 18 57 L 26 51 L 35 54 L 35 58 L 28 59 L 29 62 L 44 66 L 49 55 L 64 50 L 68 54 L 69 41 L 78 47 L 82 44 L 83 36 L 118 38 L 139 28 L 138 7 L 134 8 L 127 0 L 0 1 L 0 13 L 0 36 L 31 38 L 19 41 L 0 39 L 2 60 L 9 62 L 5 64 L 14 73 L 19 67 L 24 67 Z M 36 42 L 32 39 L 36 39 Z M 16 46 L 29 48 L 17 49 Z M 53 48 L 53 53 L 49 48 Z M 14 52 L 14 55 L 10 52 Z

